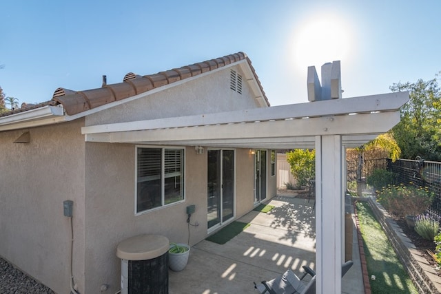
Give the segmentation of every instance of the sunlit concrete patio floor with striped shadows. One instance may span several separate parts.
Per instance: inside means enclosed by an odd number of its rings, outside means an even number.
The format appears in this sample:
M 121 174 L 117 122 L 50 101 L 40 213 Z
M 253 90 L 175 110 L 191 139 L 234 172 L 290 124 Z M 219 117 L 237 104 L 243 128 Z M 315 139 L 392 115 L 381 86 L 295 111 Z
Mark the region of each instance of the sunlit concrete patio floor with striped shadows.
M 269 213 L 250 211 L 239 218 L 251 225 L 227 243 L 203 240 L 192 246 L 185 269 L 169 271 L 169 293 L 258 293 L 253 282 L 271 280 L 287 269 L 301 276 L 305 264 L 314 269 L 313 203 L 289 195 L 276 196 L 267 202 L 275 206 Z M 342 279 L 342 293 L 362 294 L 365 289 L 353 227 L 354 264 Z

